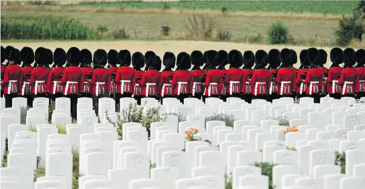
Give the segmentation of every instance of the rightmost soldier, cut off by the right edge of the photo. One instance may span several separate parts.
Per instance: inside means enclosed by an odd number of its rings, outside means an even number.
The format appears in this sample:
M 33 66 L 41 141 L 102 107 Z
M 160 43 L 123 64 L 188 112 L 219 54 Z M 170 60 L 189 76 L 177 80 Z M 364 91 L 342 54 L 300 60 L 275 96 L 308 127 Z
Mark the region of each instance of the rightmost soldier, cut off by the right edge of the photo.
M 358 73 L 357 85 L 356 85 L 356 98 L 360 99 L 365 96 L 365 50 L 359 49 L 356 51 L 356 69 Z

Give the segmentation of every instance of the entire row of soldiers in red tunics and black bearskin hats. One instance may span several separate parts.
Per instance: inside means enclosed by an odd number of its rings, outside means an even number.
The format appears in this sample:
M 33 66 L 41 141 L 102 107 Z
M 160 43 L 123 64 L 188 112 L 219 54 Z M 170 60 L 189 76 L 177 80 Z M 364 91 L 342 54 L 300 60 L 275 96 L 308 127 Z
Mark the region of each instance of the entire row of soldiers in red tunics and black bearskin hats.
M 6 66 L 2 64 L 5 59 Z M 8 46 L 1 47 L 1 93 L 6 107 L 11 107 L 12 98 L 18 95 L 27 98 L 29 106 L 34 97 L 48 96 L 55 100 L 67 96 L 72 101 L 74 118 L 78 97 L 99 97 L 105 93 L 115 97 L 117 103 L 122 97 L 134 97 L 139 104 L 143 97 L 155 97 L 162 103 L 165 97 L 181 101 L 196 97 L 205 101 L 207 97 L 225 100 L 234 96 L 250 102 L 310 96 L 319 102 L 326 94 L 334 98 L 365 96 L 364 49 L 355 52 L 352 48 L 343 51 L 333 48 L 329 69 L 323 66 L 327 62 L 323 49 L 303 49 L 299 54 L 299 70 L 293 67 L 297 59 L 296 52 L 288 48 L 271 49 L 268 53 L 258 50 L 255 54 L 252 51 L 242 54 L 238 50 L 229 53 L 195 50 L 191 54 L 180 52 L 177 57 L 166 52 L 161 61 L 153 51 L 131 55 L 128 50 L 97 49 L 92 55 L 90 50 L 80 51 L 77 47 L 67 52 L 62 48 L 52 52 L 39 47 L 33 52 L 30 47 L 18 50 Z M 162 64 L 165 69 L 160 72 Z

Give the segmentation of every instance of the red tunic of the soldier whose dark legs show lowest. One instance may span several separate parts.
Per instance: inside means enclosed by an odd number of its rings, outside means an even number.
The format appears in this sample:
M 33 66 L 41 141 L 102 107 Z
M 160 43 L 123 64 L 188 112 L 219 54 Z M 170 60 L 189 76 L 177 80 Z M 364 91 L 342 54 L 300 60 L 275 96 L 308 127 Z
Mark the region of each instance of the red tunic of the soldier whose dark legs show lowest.
M 83 92 L 84 76 L 81 68 L 70 66 L 63 71 L 61 84 L 64 85 L 64 94 L 79 94 Z

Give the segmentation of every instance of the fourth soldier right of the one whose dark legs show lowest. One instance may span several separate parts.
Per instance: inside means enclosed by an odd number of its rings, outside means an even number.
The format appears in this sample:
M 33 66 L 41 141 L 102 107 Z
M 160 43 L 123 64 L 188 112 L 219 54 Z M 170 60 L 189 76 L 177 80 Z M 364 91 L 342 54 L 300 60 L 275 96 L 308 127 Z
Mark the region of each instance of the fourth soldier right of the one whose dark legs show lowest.
M 122 97 L 132 97 L 133 86 L 132 80 L 135 71 L 130 66 L 131 56 L 128 50 L 121 50 L 119 52 L 119 58 L 121 60 L 121 68 L 117 71 L 115 82 L 118 83 L 118 99 Z

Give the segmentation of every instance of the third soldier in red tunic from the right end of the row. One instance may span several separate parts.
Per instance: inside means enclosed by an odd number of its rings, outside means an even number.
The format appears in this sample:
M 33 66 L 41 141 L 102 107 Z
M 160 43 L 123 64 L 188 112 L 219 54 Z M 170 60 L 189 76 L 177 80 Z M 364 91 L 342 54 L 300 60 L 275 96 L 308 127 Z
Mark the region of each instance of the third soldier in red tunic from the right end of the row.
M 330 97 L 334 97 L 335 99 L 341 99 L 339 79 L 342 71 L 342 68 L 340 67 L 340 64 L 342 64 L 342 54 L 342 49 L 338 47 L 332 48 L 330 52 L 332 65 L 328 70 L 326 84 L 328 94 Z

